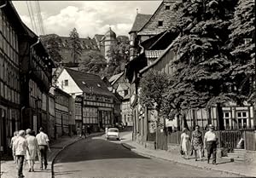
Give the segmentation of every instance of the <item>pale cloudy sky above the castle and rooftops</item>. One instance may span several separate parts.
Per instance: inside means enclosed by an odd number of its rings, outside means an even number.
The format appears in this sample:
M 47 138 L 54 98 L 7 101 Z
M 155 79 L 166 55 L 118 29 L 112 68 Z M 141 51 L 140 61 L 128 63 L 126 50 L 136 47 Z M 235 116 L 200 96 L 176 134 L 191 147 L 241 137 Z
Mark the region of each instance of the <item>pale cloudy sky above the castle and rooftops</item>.
M 13 1 L 21 20 L 38 35 L 38 15 L 35 1 Z M 109 26 L 119 35 L 128 36 L 137 9 L 141 14 L 154 14 L 161 1 L 40 1 L 45 34 L 55 33 L 68 37 L 75 27 L 80 37 L 105 34 Z M 27 5 L 32 7 L 37 29 L 32 22 Z M 32 13 L 33 12 L 33 13 Z

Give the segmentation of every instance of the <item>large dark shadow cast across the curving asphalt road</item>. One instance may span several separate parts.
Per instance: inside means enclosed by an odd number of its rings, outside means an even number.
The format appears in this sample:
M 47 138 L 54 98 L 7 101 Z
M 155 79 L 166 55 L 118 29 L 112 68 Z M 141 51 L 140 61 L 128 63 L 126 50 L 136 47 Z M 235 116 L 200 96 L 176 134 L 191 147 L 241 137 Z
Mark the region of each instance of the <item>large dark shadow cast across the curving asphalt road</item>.
M 103 139 L 94 139 L 88 141 L 79 141 L 66 150 L 56 158 L 58 163 L 73 163 L 90 160 L 104 160 L 104 159 L 124 159 L 124 158 L 140 158 L 150 159 L 131 152 L 129 149 L 122 146 L 119 141 L 106 141 Z

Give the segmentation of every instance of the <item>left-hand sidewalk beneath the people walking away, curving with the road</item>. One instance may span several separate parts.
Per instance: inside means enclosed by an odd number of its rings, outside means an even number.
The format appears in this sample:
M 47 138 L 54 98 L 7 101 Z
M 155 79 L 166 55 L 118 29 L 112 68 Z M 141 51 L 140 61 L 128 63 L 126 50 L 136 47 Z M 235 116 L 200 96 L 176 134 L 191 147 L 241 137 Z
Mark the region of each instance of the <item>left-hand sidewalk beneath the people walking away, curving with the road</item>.
M 102 135 L 101 133 L 93 133 L 89 137 L 93 137 L 96 135 Z M 86 137 L 86 139 L 88 136 Z M 50 152 L 48 153 L 48 167 L 45 170 L 41 170 L 39 166 L 39 162 L 36 161 L 35 164 L 35 172 L 28 172 L 28 165 L 25 164 L 23 167 L 23 174 L 26 178 L 51 178 L 52 176 L 52 162 L 54 161 L 55 157 L 58 155 L 61 150 L 65 149 L 67 146 L 72 145 L 73 143 L 79 141 L 79 139 L 76 136 L 69 137 L 64 136 L 56 141 L 50 142 Z M 14 164 L 13 160 L 10 161 L 1 161 L 1 178 L 15 178 L 17 177 L 17 169 L 16 164 Z

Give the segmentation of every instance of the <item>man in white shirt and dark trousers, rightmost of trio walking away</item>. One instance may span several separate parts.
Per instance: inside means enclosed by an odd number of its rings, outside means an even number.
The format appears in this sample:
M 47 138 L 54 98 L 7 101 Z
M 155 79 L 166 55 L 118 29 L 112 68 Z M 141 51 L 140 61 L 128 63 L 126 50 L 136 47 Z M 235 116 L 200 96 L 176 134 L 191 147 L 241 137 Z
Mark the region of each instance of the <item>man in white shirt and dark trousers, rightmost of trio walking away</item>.
M 44 128 L 39 129 L 39 134 L 36 136 L 39 146 L 40 152 L 40 169 L 43 170 L 43 162 L 44 162 L 44 169 L 47 169 L 47 150 L 50 152 L 49 149 L 49 137 L 48 135 L 44 134 Z

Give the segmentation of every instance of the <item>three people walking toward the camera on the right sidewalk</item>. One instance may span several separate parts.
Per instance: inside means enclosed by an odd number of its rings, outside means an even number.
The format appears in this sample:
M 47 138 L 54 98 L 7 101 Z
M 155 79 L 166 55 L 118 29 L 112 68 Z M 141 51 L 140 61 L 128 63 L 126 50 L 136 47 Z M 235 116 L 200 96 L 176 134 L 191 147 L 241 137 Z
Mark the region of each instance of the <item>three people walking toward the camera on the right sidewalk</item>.
M 198 156 L 202 161 L 202 156 L 204 149 L 207 149 L 207 163 L 210 163 L 210 158 L 212 156 L 212 164 L 216 164 L 216 153 L 218 138 L 217 135 L 213 132 L 212 124 L 208 125 L 208 131 L 203 136 L 200 131 L 199 125 L 195 126 L 195 130 L 192 132 L 191 138 L 189 135 L 189 130 L 184 128 L 183 134 L 181 135 L 181 154 L 183 158 L 189 158 L 189 152 L 191 155 L 193 151 L 195 152 L 195 161 L 198 161 Z

